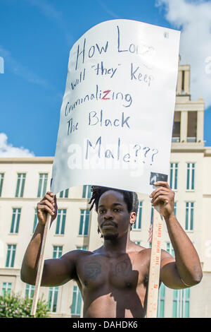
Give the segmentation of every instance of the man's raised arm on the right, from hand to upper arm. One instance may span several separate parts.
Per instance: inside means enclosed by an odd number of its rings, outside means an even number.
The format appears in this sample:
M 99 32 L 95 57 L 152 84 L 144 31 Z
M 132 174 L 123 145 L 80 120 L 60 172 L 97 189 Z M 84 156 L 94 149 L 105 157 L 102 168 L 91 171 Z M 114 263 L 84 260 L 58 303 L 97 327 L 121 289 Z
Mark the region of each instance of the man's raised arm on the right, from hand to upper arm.
M 185 288 L 197 285 L 203 277 L 200 259 L 191 240 L 174 215 L 174 191 L 167 182 L 157 182 L 158 186 L 151 194 L 153 206 L 163 204 L 162 215 L 165 218 L 170 240 L 174 248 L 175 259 L 167 251 L 162 251 L 160 262 L 160 280 L 170 288 Z

